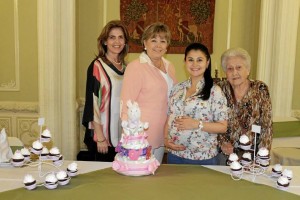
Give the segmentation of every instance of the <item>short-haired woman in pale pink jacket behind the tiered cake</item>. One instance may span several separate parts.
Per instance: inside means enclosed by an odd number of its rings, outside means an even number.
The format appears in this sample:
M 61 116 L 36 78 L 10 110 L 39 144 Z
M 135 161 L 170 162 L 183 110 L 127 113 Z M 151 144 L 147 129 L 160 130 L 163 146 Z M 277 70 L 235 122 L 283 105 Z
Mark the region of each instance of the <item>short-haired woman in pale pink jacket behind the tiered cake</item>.
M 127 120 L 127 101 L 136 101 L 141 109 L 141 121 L 149 122 L 148 141 L 160 162 L 164 155 L 163 129 L 168 95 L 177 83 L 174 66 L 163 57 L 170 41 L 171 33 L 165 24 L 154 23 L 145 29 L 142 35 L 144 51 L 127 65 L 121 92 L 122 120 Z

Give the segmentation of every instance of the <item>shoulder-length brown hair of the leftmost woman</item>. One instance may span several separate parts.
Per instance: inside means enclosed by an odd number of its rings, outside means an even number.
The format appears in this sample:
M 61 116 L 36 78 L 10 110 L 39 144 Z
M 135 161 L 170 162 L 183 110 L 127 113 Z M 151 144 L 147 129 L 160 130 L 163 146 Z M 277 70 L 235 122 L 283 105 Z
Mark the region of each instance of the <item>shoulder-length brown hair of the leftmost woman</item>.
M 107 52 L 107 46 L 104 43 L 106 42 L 106 40 L 109 36 L 109 33 L 110 33 L 111 29 L 113 29 L 113 28 L 121 28 L 123 31 L 123 34 L 124 34 L 125 47 L 123 48 L 123 50 L 120 52 L 120 55 L 119 55 L 120 61 L 124 62 L 124 58 L 129 51 L 129 46 L 128 46 L 129 34 L 128 34 L 126 26 L 120 20 L 112 20 L 112 21 L 108 22 L 102 29 L 102 31 L 97 39 L 98 57 L 99 58 L 105 57 L 105 53 Z

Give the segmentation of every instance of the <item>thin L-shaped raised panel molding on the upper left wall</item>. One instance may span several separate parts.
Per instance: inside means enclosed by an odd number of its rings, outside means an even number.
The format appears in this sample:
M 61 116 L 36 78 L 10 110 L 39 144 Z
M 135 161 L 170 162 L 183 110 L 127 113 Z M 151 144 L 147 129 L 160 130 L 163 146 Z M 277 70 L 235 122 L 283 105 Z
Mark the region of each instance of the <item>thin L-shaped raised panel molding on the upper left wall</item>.
M 18 0 L 14 0 L 14 44 L 15 44 L 15 80 L 0 82 L 0 91 L 19 91 L 20 90 L 20 61 L 19 61 L 19 9 Z M 10 67 L 10 66 L 7 66 Z

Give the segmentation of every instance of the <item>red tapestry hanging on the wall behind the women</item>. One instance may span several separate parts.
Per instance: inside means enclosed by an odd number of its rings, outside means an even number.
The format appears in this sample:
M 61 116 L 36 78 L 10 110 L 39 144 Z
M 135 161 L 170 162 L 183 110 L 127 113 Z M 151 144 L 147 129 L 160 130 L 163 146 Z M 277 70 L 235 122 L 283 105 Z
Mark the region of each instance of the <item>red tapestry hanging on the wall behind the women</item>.
M 129 52 L 141 52 L 141 35 L 154 23 L 163 22 L 171 30 L 169 53 L 184 53 L 191 42 L 205 44 L 213 52 L 215 0 L 121 0 L 120 16 L 127 25 Z

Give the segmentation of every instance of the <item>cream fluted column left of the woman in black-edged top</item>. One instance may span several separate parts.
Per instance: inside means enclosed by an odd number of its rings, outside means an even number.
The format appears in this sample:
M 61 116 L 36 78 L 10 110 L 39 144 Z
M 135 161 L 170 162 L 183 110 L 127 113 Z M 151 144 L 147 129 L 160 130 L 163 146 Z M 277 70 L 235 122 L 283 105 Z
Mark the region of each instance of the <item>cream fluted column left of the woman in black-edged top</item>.
M 66 159 L 77 153 L 75 1 L 38 2 L 40 116 Z

